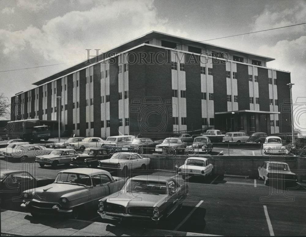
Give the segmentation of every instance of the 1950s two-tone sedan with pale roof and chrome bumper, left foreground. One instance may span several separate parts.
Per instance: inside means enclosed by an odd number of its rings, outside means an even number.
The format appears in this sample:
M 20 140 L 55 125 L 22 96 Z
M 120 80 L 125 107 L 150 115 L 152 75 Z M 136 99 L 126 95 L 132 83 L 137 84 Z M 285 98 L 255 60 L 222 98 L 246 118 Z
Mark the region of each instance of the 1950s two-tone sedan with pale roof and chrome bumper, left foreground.
M 33 217 L 60 214 L 78 219 L 96 209 L 99 199 L 117 192 L 124 183 L 124 179 L 101 169 L 67 169 L 58 173 L 54 183 L 24 191 L 21 207 Z

